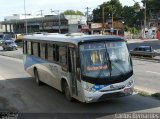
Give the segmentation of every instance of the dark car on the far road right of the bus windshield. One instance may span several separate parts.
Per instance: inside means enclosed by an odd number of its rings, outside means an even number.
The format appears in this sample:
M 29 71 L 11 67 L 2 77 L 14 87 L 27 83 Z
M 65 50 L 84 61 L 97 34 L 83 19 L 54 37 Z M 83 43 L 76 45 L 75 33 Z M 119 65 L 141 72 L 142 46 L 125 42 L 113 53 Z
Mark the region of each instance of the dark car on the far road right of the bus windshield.
M 153 50 L 152 46 L 138 46 L 130 51 L 131 55 L 143 56 L 143 57 L 155 57 L 156 51 Z

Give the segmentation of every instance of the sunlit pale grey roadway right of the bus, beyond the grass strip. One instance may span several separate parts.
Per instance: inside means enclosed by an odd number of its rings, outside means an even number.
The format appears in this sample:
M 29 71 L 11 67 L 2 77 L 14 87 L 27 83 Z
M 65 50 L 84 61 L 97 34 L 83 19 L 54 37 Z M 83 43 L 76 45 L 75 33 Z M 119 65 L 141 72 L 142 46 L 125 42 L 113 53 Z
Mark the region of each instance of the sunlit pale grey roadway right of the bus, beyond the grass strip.
M 148 93 L 160 93 L 160 61 L 133 60 L 135 87 Z

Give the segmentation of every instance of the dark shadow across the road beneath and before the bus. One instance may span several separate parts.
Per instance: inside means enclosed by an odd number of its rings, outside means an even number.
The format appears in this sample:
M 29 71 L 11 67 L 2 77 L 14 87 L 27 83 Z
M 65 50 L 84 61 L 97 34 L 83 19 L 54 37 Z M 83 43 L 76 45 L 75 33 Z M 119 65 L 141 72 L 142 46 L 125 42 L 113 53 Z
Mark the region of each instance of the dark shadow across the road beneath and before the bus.
M 139 95 L 90 104 L 68 102 L 61 92 L 48 85 L 39 87 L 32 78 L 0 80 L 0 91 L 0 111 L 18 111 L 22 113 L 21 116 L 68 114 L 100 118 L 115 113 L 140 112 L 160 107 L 159 100 Z

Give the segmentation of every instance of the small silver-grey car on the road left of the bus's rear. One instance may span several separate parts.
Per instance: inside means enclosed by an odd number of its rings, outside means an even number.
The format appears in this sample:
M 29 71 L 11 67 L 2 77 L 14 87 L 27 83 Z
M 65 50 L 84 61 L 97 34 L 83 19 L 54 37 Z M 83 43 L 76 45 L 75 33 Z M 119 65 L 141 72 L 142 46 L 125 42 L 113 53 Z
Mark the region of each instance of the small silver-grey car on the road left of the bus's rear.
M 17 44 L 13 40 L 5 40 L 2 42 L 3 50 L 17 50 Z

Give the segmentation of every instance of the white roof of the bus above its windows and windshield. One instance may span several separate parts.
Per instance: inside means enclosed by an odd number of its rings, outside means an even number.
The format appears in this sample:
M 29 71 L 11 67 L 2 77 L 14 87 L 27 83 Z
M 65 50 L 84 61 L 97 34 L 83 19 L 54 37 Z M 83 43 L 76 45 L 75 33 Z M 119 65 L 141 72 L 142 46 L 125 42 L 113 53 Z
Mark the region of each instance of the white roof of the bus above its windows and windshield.
M 124 37 L 115 36 L 115 35 L 85 35 L 82 33 L 79 34 L 33 34 L 25 35 L 24 40 L 34 40 L 34 41 L 56 41 L 56 42 L 65 42 L 78 44 L 79 42 L 89 42 L 97 41 L 98 39 L 108 40 L 108 41 L 119 41 L 125 40 Z

